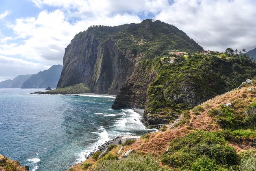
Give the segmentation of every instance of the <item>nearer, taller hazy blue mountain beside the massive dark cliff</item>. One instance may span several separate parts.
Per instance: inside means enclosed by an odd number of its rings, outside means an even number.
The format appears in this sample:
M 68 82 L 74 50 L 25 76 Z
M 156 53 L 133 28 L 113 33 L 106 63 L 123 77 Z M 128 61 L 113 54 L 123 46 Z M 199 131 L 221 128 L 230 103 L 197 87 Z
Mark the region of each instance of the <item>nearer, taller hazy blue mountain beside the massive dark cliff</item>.
M 47 70 L 40 71 L 34 74 L 28 80 L 26 80 L 21 88 L 31 89 L 31 88 L 56 88 L 59 78 L 61 76 L 62 65 L 53 65 Z

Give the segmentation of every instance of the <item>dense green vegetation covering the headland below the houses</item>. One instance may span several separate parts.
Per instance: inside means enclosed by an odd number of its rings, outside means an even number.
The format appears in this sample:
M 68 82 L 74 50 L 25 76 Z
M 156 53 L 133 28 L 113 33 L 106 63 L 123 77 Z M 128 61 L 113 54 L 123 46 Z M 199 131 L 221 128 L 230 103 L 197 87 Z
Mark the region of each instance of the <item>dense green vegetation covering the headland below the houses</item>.
M 256 75 L 256 63 L 249 56 L 220 56 L 221 53 L 190 54 L 182 63 L 154 67 L 158 75 L 148 88 L 148 116 L 174 119 L 182 110 L 239 87 Z M 160 58 L 152 60 L 155 65 L 151 65 L 156 66 Z M 196 110 L 195 115 L 202 112 L 200 107 Z

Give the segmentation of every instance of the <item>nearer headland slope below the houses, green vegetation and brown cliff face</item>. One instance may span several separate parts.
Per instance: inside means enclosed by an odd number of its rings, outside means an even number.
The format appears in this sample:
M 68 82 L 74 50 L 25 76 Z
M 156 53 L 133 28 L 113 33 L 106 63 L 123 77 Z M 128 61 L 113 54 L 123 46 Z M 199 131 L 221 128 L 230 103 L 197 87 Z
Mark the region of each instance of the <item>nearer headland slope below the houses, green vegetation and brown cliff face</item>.
M 161 57 L 141 60 L 121 87 L 112 108 L 145 108 L 149 125 L 169 123 L 182 110 L 238 87 L 256 75 L 256 63 L 244 54 L 190 54 L 172 64 Z

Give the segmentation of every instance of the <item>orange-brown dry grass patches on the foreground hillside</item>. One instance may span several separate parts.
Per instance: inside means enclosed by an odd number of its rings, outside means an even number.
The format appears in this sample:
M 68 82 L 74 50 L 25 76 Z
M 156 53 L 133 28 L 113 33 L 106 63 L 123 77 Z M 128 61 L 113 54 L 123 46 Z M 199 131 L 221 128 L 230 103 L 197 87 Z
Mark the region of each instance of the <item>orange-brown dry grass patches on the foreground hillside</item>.
M 246 88 L 253 88 L 254 91 L 248 91 Z M 168 129 L 165 132 L 154 132 L 150 133 L 150 138 L 145 139 L 139 139 L 135 141 L 130 146 L 124 147 L 124 151 L 127 151 L 128 149 L 133 149 L 136 152 L 141 153 L 152 153 L 154 156 L 158 156 L 160 154 L 163 154 L 166 152 L 167 148 L 169 147 L 169 143 L 178 138 L 182 137 L 186 134 L 189 134 L 191 130 L 208 130 L 208 131 L 217 131 L 221 128 L 217 123 L 215 123 L 214 118 L 210 117 L 208 115 L 208 112 L 212 108 L 219 108 L 219 105 L 221 104 L 227 104 L 231 102 L 234 105 L 234 110 L 237 112 L 243 112 L 245 111 L 246 106 L 249 103 L 252 103 L 256 100 L 256 86 L 250 85 L 248 87 L 243 87 L 240 90 L 232 90 L 230 92 L 227 92 L 222 95 L 218 95 L 214 97 L 213 99 L 210 99 L 204 103 L 202 103 L 200 106 L 202 106 L 205 110 L 202 112 L 199 112 L 199 115 L 193 115 L 193 111 L 189 111 L 190 119 L 187 123 L 179 124 L 178 126 Z M 183 115 L 180 116 L 180 120 L 182 120 Z M 168 126 L 167 126 L 168 128 Z M 237 143 L 230 143 L 230 145 L 234 146 L 237 152 L 241 152 L 243 150 L 249 149 L 249 144 L 246 142 L 242 142 L 241 144 Z M 116 154 L 120 147 L 117 147 L 113 150 L 111 150 L 111 153 Z M 121 155 L 121 154 L 120 154 Z M 88 159 L 86 162 L 94 163 L 91 158 Z M 80 164 L 78 164 L 80 166 Z M 76 165 L 77 166 L 77 165 Z M 82 171 L 82 169 L 78 166 L 74 166 L 73 168 L 76 169 L 76 171 Z M 75 170 L 74 170 L 75 171 Z

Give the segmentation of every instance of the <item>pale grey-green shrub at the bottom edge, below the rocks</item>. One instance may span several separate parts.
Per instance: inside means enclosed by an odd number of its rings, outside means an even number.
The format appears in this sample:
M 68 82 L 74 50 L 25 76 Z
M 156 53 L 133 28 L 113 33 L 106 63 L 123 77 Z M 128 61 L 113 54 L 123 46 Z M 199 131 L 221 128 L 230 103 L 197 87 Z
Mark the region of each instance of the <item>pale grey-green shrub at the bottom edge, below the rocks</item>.
M 158 171 L 160 169 L 153 156 L 131 154 L 121 160 L 100 160 L 93 171 Z

